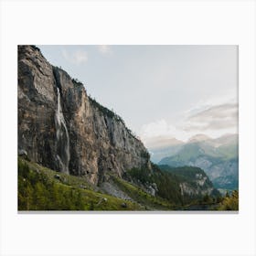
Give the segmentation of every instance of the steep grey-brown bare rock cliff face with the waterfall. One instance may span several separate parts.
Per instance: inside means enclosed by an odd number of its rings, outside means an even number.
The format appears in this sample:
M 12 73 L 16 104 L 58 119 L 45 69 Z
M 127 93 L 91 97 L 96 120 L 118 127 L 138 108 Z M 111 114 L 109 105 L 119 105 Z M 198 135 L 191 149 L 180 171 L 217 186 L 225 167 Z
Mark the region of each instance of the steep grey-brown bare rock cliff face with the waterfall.
M 110 173 L 123 176 L 133 167 L 151 168 L 144 144 L 123 120 L 33 46 L 18 47 L 18 150 L 93 184 Z

